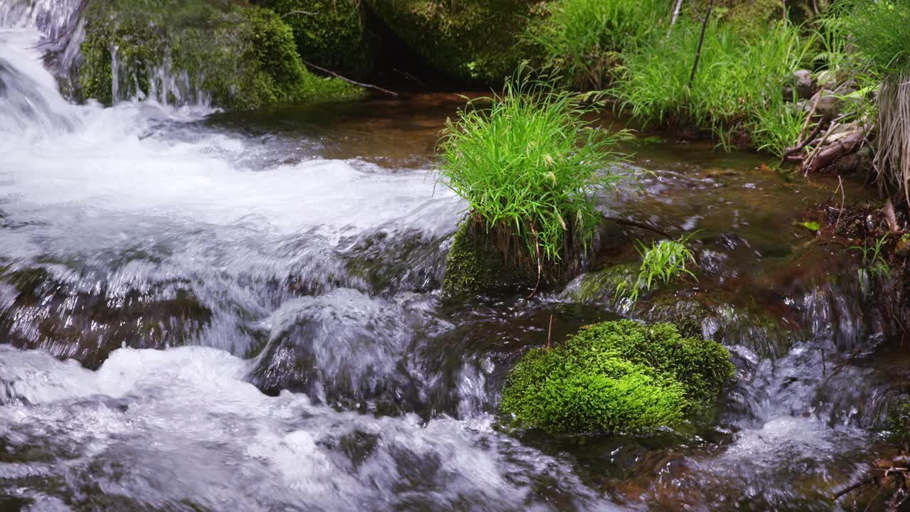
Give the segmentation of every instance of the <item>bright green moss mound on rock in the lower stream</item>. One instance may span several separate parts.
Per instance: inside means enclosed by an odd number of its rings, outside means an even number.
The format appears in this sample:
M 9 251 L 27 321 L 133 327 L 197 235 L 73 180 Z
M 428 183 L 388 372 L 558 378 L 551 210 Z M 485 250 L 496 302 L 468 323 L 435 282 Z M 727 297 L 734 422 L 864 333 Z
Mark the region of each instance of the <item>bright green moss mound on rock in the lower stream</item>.
M 679 425 L 733 378 L 729 357 L 723 345 L 682 337 L 670 323 L 598 323 L 525 354 L 511 369 L 501 412 L 551 433 Z

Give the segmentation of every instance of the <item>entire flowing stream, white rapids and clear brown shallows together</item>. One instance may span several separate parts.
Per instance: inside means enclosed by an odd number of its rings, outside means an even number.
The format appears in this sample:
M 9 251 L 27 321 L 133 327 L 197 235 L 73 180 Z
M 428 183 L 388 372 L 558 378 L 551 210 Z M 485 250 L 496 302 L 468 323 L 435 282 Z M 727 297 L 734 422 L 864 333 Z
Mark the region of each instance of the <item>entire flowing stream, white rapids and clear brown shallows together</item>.
M 905 356 L 794 225 L 830 181 L 632 143 L 644 190 L 602 207 L 703 230 L 702 281 L 651 312 L 707 308 L 737 383 L 693 432 L 503 432 L 525 349 L 639 313 L 577 284 L 440 300 L 465 204 L 433 149 L 463 100 L 77 106 L 43 58 L 77 6 L 0 0 L 0 508 L 828 510 L 875 457 Z M 623 237 L 599 263 L 633 261 Z

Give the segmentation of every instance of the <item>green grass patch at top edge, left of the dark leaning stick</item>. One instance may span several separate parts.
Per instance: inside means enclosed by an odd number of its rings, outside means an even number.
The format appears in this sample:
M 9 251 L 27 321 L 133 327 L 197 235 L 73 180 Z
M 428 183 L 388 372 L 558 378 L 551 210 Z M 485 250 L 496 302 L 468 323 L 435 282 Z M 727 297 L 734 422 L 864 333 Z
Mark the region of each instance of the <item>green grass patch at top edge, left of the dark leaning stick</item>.
M 620 52 L 663 32 L 671 8 L 667 0 L 559 0 L 527 37 L 573 87 L 601 89 Z

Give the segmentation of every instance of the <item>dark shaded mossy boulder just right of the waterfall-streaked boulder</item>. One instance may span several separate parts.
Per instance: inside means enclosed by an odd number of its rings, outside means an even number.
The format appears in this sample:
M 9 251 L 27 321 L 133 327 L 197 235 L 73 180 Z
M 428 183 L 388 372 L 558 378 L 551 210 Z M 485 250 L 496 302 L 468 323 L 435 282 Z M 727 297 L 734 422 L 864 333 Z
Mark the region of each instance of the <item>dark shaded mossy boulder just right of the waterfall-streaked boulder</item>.
M 379 36 L 360 0 L 261 0 L 294 31 L 301 57 L 346 77 L 368 77 Z

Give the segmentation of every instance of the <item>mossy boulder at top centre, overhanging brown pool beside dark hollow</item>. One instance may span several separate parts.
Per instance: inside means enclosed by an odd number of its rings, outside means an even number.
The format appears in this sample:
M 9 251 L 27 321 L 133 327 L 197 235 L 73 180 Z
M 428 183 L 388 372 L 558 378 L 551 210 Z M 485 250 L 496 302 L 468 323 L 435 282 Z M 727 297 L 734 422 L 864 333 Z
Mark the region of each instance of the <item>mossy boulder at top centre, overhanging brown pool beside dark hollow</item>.
M 369 7 L 432 67 L 473 82 L 501 82 L 535 56 L 524 34 L 528 0 L 367 0 Z

